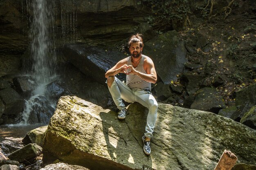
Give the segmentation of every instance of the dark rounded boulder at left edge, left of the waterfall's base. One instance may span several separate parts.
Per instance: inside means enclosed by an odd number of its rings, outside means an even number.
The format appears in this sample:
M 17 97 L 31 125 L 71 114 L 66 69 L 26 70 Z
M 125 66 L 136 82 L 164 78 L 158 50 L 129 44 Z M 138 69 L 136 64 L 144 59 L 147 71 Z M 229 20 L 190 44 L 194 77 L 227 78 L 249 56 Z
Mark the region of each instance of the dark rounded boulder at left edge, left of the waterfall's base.
M 23 111 L 25 100 L 13 88 L 5 88 L 0 91 L 0 99 L 5 105 L 3 114 L 17 115 Z

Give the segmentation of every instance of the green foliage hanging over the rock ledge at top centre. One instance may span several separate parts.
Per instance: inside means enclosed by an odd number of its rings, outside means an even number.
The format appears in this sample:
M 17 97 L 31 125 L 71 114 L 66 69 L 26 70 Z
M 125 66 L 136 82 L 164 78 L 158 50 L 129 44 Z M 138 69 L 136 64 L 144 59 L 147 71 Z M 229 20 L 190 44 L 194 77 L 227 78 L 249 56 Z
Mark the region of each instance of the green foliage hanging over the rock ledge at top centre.
M 189 0 L 141 0 L 151 10 L 147 18 L 155 31 L 180 30 L 190 24 Z

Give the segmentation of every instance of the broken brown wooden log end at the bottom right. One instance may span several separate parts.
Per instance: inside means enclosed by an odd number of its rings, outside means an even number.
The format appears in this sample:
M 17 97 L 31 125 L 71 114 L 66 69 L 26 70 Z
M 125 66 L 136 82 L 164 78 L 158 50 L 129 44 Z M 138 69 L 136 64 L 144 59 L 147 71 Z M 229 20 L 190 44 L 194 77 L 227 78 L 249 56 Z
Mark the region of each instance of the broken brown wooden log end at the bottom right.
M 229 150 L 224 150 L 214 170 L 231 170 L 237 161 L 237 157 Z

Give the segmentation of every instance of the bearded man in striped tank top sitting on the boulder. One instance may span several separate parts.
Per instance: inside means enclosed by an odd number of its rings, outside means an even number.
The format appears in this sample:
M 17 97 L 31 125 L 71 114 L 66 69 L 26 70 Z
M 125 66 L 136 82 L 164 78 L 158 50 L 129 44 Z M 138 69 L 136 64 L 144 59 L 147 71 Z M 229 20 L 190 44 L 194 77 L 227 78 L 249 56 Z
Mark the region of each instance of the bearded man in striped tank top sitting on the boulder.
M 157 81 L 157 74 L 153 61 L 141 54 L 144 46 L 141 36 L 136 34 L 130 37 L 128 45 L 131 56 L 119 61 L 106 72 L 105 77 L 112 98 L 120 110 L 119 119 L 126 117 L 126 106 L 122 99 L 129 103 L 138 102 L 148 108 L 146 129 L 142 140 L 144 153 L 150 155 L 150 139 L 153 137 L 157 119 L 157 101 L 151 94 L 151 83 Z M 126 84 L 115 77 L 118 73 L 126 74 Z

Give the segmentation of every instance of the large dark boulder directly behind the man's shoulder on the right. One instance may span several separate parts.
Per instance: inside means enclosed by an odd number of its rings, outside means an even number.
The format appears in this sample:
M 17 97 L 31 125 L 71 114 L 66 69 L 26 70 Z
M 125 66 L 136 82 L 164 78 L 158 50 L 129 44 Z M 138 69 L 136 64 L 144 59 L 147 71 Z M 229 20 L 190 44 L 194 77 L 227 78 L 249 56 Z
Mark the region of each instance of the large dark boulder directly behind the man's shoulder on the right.
M 168 31 L 146 42 L 143 49 L 143 53 L 153 60 L 157 75 L 164 84 L 177 79 L 187 62 L 185 43 L 178 41 L 177 35 L 175 30 Z

